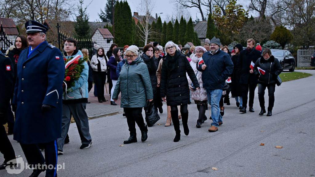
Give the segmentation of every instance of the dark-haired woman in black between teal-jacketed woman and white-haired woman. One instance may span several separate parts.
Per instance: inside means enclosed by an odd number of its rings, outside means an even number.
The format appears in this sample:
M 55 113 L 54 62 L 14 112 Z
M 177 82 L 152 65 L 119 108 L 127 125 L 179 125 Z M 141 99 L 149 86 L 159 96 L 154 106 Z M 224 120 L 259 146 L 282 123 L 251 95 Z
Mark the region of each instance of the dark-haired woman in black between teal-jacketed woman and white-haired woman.
M 154 56 L 155 49 L 151 44 L 146 44 L 143 47 L 143 54 L 141 56 L 142 60 L 146 64 L 149 70 L 152 91 L 153 91 L 153 105 L 154 108 L 157 110 L 158 103 L 157 103 L 157 66 L 158 66 L 158 59 Z

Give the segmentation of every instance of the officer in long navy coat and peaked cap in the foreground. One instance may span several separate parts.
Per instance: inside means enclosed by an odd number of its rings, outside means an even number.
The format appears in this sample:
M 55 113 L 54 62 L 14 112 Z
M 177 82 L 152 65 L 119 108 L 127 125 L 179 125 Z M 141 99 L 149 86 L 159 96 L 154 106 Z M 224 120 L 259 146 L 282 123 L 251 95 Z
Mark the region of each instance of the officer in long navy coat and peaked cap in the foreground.
M 46 176 L 57 176 L 56 140 L 61 135 L 65 63 L 60 50 L 46 42 L 46 26 L 30 20 L 25 27 L 30 47 L 21 52 L 17 63 L 13 139 L 20 143 L 28 164 L 35 168 L 30 177 L 45 170 Z M 45 149 L 45 159 L 39 146 Z M 45 164 L 47 169 L 39 169 L 38 164 Z

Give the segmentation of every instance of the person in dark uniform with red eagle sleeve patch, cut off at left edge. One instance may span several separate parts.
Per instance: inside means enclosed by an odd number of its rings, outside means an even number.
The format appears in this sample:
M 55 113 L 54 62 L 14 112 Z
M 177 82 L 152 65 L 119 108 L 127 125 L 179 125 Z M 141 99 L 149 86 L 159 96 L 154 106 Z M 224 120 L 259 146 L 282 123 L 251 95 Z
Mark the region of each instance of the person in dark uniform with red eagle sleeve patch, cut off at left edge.
M 13 116 L 10 106 L 11 96 L 9 95 L 10 90 L 12 91 L 13 89 L 13 75 L 11 59 L 0 53 L 0 152 L 4 157 L 0 170 L 5 169 L 6 166 L 10 165 L 9 161 L 15 159 L 13 147 L 3 126 L 3 124 L 8 122 L 9 116 Z

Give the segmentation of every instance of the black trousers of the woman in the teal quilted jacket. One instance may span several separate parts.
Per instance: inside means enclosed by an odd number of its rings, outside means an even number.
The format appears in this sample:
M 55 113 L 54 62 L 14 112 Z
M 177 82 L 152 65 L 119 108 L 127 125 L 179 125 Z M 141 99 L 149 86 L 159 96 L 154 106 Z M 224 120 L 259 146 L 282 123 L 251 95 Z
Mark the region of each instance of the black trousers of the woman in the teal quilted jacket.
M 146 130 L 146 125 L 142 117 L 142 107 L 123 108 L 123 111 L 125 111 L 125 116 L 127 118 L 130 136 L 136 136 L 135 123 L 137 123 L 138 127 L 140 128 L 140 131 Z

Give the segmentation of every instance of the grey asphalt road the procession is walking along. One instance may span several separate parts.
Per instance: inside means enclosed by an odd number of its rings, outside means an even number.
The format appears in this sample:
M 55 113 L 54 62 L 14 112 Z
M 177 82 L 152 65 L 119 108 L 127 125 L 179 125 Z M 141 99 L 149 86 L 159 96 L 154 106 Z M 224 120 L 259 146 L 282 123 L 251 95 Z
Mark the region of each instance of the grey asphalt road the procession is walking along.
M 285 176 L 308 177 L 315 175 L 315 71 L 305 71 L 311 77 L 284 82 L 276 86 L 275 106 L 271 117 L 259 116 L 260 106 L 256 88 L 255 112 L 240 113 L 232 98 L 225 104 L 223 125 L 210 133 L 211 120 L 196 128 L 198 110 L 194 103 L 189 107 L 190 133 L 183 131 L 179 142 L 173 142 L 173 125 L 164 127 L 166 105 L 161 119 L 149 127 L 148 139 L 123 145 L 129 137 L 126 118 L 122 114 L 101 117 L 89 121 L 92 146 L 81 146 L 76 124 L 69 129 L 70 143 L 64 146 L 64 155 L 58 156 L 58 164 L 64 163 L 58 176 Z M 267 93 L 265 100 L 267 102 Z M 266 105 L 267 107 L 267 105 Z M 206 111 L 210 117 L 211 111 Z M 183 130 L 182 125 L 180 129 Z M 16 156 L 25 160 L 20 145 L 9 139 Z M 264 146 L 261 146 L 264 143 Z M 275 146 L 283 146 L 278 149 Z M 1 157 L 2 158 L 2 157 Z M 1 159 L 0 159 L 1 160 Z M 212 170 L 215 167 L 217 170 Z M 1 177 L 29 176 L 31 170 L 20 174 L 0 171 Z M 45 176 L 44 173 L 40 176 Z

